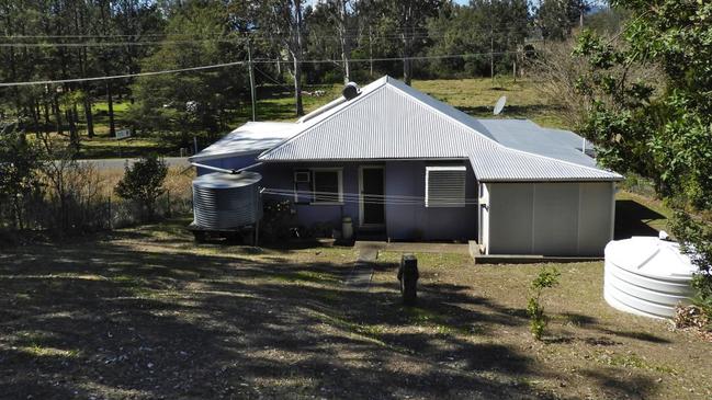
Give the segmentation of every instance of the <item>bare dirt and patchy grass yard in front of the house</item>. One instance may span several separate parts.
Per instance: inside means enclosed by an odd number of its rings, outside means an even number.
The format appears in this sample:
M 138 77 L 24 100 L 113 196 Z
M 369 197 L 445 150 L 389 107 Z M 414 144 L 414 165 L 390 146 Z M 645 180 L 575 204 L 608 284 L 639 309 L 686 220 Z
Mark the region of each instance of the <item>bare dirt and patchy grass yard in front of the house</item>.
M 400 306 L 383 253 L 196 247 L 183 220 L 0 250 L 0 398 L 709 399 L 712 345 L 602 300 L 602 264 L 560 265 L 549 334 L 524 312 L 539 265 L 419 254 Z

